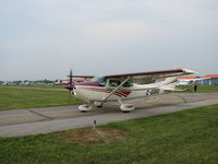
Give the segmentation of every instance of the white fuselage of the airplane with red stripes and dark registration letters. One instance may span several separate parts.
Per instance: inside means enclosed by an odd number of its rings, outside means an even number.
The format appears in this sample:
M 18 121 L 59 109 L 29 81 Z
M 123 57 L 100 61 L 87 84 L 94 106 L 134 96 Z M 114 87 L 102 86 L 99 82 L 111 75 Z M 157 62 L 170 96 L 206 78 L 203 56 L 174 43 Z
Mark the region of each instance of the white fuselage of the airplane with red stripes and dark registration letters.
M 104 97 L 107 97 L 109 94 L 111 94 L 111 96 L 107 101 L 113 102 L 118 99 L 133 99 L 165 93 L 158 83 L 144 85 L 132 83 L 131 85 L 121 86 L 119 90 L 113 92 L 114 89 L 116 86 L 104 85 L 99 82 L 85 82 L 75 84 L 73 92 L 77 98 L 87 103 L 101 102 L 104 101 Z

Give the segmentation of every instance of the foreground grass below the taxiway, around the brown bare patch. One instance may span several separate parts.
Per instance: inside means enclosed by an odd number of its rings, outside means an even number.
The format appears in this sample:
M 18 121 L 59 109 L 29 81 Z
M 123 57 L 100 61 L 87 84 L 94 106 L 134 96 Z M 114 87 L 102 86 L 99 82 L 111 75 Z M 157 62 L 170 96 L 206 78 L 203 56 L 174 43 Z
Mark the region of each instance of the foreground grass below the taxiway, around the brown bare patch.
M 0 139 L 1 164 L 217 164 L 218 105 L 102 126 L 125 132 L 81 145 L 76 130 Z M 85 133 L 86 134 L 86 133 Z M 66 138 L 65 137 L 65 138 Z M 66 138 L 68 139 L 68 138 Z

